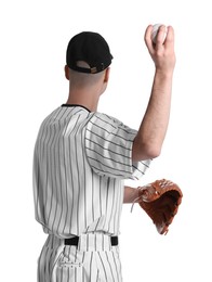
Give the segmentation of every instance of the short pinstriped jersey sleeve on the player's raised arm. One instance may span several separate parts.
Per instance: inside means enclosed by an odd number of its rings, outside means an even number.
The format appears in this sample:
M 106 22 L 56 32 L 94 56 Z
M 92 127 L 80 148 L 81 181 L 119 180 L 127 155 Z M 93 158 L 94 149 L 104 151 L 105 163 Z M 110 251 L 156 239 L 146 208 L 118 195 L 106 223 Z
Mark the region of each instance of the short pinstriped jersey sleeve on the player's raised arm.
M 95 113 L 85 128 L 85 153 L 92 169 L 102 176 L 140 179 L 151 159 L 132 162 L 136 133 L 118 119 Z

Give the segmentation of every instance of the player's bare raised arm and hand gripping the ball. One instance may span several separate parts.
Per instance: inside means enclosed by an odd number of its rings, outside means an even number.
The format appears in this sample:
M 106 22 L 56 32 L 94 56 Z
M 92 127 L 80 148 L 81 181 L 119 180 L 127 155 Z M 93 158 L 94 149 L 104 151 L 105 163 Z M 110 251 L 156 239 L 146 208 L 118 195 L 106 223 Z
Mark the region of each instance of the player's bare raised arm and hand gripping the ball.
M 146 113 L 141 123 L 137 136 L 133 142 L 133 162 L 155 158 L 160 155 L 167 133 L 172 92 L 172 78 L 175 66 L 174 30 L 168 27 L 163 42 L 165 27 L 161 26 L 156 46 L 153 43 L 153 26 L 145 33 L 145 42 L 155 63 L 155 77 Z

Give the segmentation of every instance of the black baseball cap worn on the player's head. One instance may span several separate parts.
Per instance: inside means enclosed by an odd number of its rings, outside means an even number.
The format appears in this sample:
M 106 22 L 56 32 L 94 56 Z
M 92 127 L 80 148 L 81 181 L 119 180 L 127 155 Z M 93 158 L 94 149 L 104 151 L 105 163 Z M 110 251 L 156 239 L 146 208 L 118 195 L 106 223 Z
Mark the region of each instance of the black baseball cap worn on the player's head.
M 74 36 L 68 43 L 66 64 L 76 72 L 96 74 L 107 68 L 111 60 L 109 46 L 100 34 L 82 31 Z M 85 62 L 90 68 L 78 66 L 78 61 Z

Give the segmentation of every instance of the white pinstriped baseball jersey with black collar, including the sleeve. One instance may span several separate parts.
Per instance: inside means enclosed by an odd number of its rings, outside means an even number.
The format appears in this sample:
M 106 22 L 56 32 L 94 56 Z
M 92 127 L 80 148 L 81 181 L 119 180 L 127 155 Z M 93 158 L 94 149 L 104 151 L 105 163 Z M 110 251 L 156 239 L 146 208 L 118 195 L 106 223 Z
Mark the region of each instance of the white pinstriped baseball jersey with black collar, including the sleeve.
M 135 136 L 118 119 L 79 105 L 62 105 L 42 121 L 34 152 L 34 200 L 45 233 L 119 234 L 124 179 L 140 179 L 150 163 L 132 163 Z

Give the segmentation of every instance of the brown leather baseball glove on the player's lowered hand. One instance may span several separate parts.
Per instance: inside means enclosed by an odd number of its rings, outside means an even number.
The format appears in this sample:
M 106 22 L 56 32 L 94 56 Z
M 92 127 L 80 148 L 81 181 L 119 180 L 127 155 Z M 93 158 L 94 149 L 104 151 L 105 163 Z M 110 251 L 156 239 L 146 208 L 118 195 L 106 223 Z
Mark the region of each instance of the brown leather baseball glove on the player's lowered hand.
M 172 223 L 183 193 L 177 184 L 161 179 L 138 188 L 138 204 L 153 219 L 157 231 L 167 234 Z

